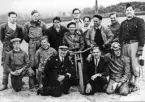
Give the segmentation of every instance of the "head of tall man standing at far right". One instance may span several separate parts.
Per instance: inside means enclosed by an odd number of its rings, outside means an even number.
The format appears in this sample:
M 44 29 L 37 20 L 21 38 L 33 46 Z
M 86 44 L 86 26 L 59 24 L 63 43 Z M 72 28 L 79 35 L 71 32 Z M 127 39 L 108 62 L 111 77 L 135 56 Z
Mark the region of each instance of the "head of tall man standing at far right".
M 134 8 L 129 3 L 127 3 L 127 5 L 126 5 L 126 16 L 128 18 L 132 18 L 134 16 Z

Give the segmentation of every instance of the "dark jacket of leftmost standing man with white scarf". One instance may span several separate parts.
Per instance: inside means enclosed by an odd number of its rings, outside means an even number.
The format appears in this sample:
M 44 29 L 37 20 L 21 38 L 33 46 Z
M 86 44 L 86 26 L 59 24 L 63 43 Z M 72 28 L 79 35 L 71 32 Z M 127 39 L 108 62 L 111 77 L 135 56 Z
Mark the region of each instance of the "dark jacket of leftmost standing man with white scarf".
M 8 23 L 2 24 L 0 29 L 0 40 L 3 44 L 10 42 L 13 38 L 24 38 L 23 28 L 21 25 L 16 24 L 16 30 L 9 28 Z

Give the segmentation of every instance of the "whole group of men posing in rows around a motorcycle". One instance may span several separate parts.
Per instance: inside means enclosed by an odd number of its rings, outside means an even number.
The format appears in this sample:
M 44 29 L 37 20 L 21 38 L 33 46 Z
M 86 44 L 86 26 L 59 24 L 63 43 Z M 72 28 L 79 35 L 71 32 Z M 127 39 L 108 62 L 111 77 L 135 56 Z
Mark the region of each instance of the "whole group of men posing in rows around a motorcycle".
M 8 13 L 8 23 L 0 29 L 3 44 L 0 91 L 8 88 L 10 74 L 12 88 L 17 92 L 21 91 L 22 78 L 27 75 L 31 91 L 36 91 L 38 84 L 37 94 L 55 97 L 68 94 L 70 87 L 77 83 L 72 52 L 88 47 L 91 51 L 83 56 L 84 94 L 101 91 L 128 95 L 139 89 L 139 57 L 143 53 L 145 23 L 134 15 L 134 7 L 126 5 L 127 18 L 121 24 L 116 20 L 117 14 L 111 13 L 108 27 L 102 26 L 101 15 L 85 16 L 81 20 L 77 8 L 72 15 L 67 27 L 60 24 L 60 17 L 55 17 L 53 25 L 47 28 L 37 10 L 31 12 L 32 19 L 23 27 L 16 23 L 15 12 Z M 23 40 L 28 43 L 28 55 L 20 48 Z

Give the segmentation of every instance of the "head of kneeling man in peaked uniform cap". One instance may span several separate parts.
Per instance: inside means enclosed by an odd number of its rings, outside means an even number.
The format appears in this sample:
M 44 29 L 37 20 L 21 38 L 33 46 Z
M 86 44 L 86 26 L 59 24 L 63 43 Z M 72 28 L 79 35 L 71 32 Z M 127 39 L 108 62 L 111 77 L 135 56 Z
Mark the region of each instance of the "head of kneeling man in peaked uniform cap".
M 58 49 L 59 56 L 65 57 L 68 53 L 68 46 L 66 44 L 62 44 Z

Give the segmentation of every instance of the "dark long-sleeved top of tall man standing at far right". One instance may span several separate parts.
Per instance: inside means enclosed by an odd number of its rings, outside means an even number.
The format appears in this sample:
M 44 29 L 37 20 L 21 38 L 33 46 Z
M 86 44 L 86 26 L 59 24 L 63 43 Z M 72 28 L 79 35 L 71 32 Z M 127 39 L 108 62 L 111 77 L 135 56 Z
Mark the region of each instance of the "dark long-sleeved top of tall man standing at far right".
M 121 23 L 119 40 L 120 42 L 128 42 L 137 40 L 139 46 L 144 46 L 145 22 L 142 18 L 133 17 L 131 20 L 124 20 Z

